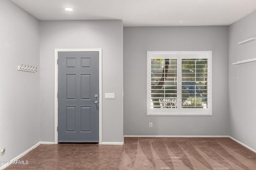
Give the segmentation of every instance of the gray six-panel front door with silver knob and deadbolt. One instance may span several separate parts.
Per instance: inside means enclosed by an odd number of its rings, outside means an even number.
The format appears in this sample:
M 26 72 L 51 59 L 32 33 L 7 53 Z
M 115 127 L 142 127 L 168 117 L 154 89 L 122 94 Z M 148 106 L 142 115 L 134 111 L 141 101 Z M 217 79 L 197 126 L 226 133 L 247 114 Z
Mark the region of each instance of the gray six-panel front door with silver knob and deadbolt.
M 99 52 L 58 52 L 58 142 L 99 142 Z

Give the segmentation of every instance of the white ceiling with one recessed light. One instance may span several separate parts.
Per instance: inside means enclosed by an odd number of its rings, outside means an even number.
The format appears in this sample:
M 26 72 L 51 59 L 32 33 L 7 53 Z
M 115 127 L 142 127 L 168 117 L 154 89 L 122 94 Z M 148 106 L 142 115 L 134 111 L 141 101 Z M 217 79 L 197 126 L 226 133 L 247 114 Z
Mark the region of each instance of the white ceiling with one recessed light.
M 12 0 L 39 20 L 123 20 L 124 26 L 230 25 L 256 0 Z M 65 7 L 74 11 L 66 12 Z

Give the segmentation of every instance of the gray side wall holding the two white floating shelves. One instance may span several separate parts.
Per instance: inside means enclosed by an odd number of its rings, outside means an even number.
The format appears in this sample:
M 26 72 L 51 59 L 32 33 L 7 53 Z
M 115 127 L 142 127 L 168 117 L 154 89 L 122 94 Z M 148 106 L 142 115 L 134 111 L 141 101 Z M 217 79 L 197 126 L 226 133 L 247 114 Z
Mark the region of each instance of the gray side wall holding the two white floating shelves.
M 256 57 L 256 11 L 229 26 L 230 136 L 256 150 L 256 62 L 232 65 Z

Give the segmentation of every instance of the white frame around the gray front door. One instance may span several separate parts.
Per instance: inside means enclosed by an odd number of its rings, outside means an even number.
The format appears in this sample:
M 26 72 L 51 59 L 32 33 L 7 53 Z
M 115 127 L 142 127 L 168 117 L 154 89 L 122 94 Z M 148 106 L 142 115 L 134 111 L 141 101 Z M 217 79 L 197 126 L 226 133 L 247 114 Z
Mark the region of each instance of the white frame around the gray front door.
M 102 144 L 102 49 L 54 49 L 54 143 L 58 144 L 58 52 L 99 52 L 99 144 Z

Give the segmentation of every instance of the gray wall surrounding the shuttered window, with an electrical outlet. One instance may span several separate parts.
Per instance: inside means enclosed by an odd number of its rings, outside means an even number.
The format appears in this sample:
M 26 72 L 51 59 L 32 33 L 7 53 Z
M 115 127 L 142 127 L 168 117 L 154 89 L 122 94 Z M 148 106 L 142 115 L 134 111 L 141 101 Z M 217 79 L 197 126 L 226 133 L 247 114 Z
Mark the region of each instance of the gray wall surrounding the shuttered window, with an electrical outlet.
M 212 116 L 147 116 L 146 51 L 212 51 Z M 228 27 L 124 27 L 124 135 L 228 133 Z

